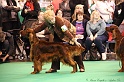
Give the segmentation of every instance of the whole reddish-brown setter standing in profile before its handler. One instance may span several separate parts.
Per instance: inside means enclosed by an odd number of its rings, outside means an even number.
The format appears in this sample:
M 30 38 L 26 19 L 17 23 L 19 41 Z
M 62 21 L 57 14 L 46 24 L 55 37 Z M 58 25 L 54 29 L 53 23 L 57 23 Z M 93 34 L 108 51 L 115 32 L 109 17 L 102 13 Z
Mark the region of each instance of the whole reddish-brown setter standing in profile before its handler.
M 43 63 L 51 62 L 53 59 L 60 59 L 63 64 L 73 67 L 71 73 L 77 72 L 77 63 L 74 56 L 79 56 L 85 50 L 83 47 L 69 45 L 61 42 L 47 42 L 36 37 L 36 33 L 28 28 L 20 31 L 22 36 L 27 36 L 30 40 L 30 60 L 34 63 L 34 71 L 31 74 L 39 73 Z

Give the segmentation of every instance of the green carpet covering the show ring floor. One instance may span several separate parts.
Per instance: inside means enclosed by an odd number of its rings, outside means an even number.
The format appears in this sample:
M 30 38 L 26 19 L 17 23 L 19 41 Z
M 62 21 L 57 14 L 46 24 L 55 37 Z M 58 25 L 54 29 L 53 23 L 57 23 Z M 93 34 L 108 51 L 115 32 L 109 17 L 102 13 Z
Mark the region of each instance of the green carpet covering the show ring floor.
M 45 64 L 39 74 L 33 71 L 32 62 L 0 64 L 0 82 L 124 82 L 119 61 L 84 61 L 85 72 L 71 74 L 72 68 L 61 64 L 57 73 L 46 74 L 51 63 Z

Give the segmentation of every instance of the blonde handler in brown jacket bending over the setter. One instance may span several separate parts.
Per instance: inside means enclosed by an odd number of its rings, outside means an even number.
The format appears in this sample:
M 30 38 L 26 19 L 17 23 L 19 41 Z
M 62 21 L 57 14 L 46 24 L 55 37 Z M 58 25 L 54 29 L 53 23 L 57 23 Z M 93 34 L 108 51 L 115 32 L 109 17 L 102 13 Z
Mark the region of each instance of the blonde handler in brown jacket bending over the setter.
M 55 16 L 53 10 L 47 10 L 44 13 L 45 21 L 37 28 L 33 28 L 34 32 L 44 30 L 46 27 L 49 28 L 51 33 L 54 35 L 54 42 L 68 42 L 72 45 L 81 46 L 77 39 L 75 39 L 75 27 L 66 19 Z M 60 69 L 60 60 L 55 59 L 52 61 L 51 68 L 46 73 L 57 72 Z

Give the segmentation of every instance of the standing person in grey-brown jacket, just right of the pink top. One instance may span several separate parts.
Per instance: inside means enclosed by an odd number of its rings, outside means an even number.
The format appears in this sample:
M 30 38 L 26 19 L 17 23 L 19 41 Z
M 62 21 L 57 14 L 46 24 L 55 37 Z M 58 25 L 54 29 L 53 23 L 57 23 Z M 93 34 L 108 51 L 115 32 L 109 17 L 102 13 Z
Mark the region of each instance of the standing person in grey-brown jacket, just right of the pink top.
M 69 7 L 69 0 L 62 0 L 61 3 L 59 3 L 59 9 L 63 12 L 63 17 L 70 21 L 71 18 L 71 9 Z

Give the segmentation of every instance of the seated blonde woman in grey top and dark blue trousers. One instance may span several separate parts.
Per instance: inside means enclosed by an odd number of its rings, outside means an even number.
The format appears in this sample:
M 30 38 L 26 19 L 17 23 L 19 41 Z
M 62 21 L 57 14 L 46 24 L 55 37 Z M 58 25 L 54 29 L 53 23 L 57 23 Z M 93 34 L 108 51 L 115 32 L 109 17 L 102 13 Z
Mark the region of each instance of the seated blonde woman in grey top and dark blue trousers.
M 86 51 L 90 50 L 92 43 L 94 43 L 102 55 L 102 60 L 106 60 L 105 48 L 103 43 L 108 40 L 108 33 L 105 31 L 106 23 L 100 18 L 97 10 L 91 14 L 90 20 L 87 22 L 86 32 L 87 38 L 85 41 Z

